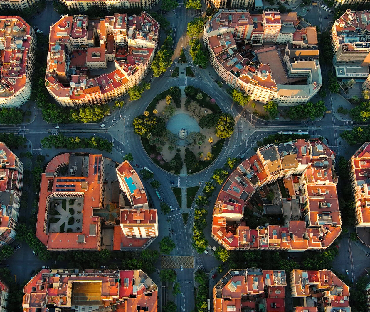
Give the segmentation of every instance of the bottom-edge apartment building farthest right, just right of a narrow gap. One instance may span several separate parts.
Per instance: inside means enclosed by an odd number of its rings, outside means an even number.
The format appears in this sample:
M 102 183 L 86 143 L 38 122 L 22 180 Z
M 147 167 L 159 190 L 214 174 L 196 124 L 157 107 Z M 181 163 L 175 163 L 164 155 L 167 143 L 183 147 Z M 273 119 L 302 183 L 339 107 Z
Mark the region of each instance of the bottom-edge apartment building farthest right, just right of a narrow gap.
M 293 270 L 289 280 L 293 298 L 302 298 L 307 305 L 315 306 L 319 311 L 351 311 L 349 286 L 332 271 Z

